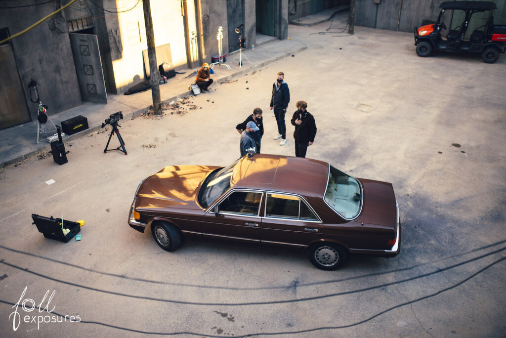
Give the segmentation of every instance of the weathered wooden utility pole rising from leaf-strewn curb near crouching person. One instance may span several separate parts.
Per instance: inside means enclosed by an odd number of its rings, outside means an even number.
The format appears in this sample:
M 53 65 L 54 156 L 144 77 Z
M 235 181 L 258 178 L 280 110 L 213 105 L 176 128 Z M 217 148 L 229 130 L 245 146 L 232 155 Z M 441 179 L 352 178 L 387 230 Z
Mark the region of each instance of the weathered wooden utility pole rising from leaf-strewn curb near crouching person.
M 153 97 L 153 112 L 155 115 L 161 115 L 160 74 L 158 73 L 158 66 L 156 64 L 155 35 L 149 0 L 142 0 L 142 8 L 144 9 L 144 25 L 146 26 L 148 43 L 149 83 L 151 84 L 151 96 Z

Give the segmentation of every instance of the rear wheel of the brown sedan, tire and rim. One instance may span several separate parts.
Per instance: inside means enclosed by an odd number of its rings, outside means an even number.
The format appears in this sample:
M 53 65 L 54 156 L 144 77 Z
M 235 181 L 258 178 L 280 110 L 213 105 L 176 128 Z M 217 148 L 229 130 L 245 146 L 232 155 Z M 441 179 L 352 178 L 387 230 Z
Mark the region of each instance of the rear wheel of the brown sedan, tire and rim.
M 333 243 L 315 243 L 308 249 L 309 261 L 318 269 L 335 270 L 346 261 L 347 251 Z

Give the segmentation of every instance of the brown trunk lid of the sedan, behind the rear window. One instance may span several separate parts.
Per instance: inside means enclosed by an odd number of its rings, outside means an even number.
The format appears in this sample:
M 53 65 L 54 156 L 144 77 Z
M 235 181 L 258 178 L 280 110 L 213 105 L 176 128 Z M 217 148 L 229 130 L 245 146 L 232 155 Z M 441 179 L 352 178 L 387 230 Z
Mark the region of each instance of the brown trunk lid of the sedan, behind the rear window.
M 362 212 L 356 222 L 396 227 L 397 206 L 391 183 L 359 179 L 362 183 Z

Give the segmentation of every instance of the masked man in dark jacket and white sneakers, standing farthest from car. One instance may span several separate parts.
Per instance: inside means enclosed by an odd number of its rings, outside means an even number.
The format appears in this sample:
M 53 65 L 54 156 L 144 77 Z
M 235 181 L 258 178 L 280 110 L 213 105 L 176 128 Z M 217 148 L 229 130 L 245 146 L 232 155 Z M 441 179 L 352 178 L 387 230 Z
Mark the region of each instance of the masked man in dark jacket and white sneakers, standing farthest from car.
M 290 90 L 284 80 L 284 73 L 279 72 L 276 78 L 276 82 L 272 85 L 272 96 L 271 96 L 271 110 L 274 111 L 276 122 L 278 123 L 278 135 L 274 140 L 279 140 L 279 145 L 282 146 L 286 143 L 286 124 L 284 116 L 288 103 L 290 102 Z

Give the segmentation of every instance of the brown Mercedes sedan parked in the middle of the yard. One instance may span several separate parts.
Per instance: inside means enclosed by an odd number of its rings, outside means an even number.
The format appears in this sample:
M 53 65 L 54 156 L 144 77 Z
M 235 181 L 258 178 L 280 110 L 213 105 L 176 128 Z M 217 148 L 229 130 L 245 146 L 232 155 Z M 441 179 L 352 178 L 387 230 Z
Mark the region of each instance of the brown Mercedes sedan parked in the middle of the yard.
M 226 167 L 164 167 L 137 188 L 129 225 L 140 232 L 150 225 L 167 251 L 182 236 L 307 248 L 323 270 L 340 267 L 348 252 L 394 257 L 401 238 L 392 184 L 314 159 L 264 154 Z

